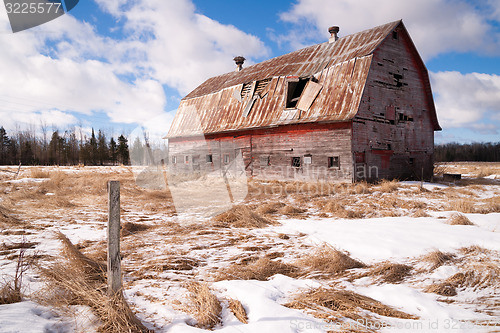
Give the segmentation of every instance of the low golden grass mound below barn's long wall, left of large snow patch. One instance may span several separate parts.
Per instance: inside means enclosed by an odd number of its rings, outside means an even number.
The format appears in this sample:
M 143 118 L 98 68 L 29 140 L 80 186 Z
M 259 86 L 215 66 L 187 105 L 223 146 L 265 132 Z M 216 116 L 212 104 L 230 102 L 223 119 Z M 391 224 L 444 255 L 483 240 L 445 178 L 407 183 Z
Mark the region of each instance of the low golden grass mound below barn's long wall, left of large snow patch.
M 250 208 L 238 205 L 214 217 L 214 225 L 224 228 L 264 228 L 274 222 Z

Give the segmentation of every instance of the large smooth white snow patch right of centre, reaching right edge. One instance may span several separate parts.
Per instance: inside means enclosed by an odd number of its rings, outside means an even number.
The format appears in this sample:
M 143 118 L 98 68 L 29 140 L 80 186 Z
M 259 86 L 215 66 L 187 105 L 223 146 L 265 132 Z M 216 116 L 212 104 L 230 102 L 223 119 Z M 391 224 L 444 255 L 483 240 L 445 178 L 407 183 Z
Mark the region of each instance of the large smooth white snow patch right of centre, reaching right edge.
M 479 245 L 500 251 L 500 213 L 475 215 L 479 225 L 447 225 L 436 218 L 384 217 L 361 220 L 281 220 L 275 230 L 304 233 L 311 244 L 327 243 L 348 251 L 352 257 L 370 264 L 398 261 L 430 250 L 449 252 Z M 469 214 L 468 214 L 469 216 Z

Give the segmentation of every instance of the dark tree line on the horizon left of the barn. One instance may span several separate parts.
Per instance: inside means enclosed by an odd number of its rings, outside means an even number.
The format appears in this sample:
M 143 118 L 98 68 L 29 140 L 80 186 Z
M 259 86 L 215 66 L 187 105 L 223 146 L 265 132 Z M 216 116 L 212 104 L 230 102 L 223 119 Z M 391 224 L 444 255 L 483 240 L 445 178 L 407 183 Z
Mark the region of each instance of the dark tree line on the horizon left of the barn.
M 8 135 L 0 127 L 0 165 L 116 165 L 130 164 L 128 139 L 122 134 L 109 140 L 106 134 L 92 129 L 90 136 L 76 130 L 16 131 Z

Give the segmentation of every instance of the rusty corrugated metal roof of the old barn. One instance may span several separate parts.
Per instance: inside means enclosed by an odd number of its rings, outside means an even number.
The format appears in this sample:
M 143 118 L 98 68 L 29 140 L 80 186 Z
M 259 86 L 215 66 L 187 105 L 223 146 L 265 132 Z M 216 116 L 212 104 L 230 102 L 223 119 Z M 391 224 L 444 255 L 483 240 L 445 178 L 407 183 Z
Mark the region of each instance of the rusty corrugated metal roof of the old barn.
M 167 137 L 350 120 L 363 95 L 372 53 L 399 24 L 402 22 L 391 22 L 208 79 L 183 98 Z M 290 76 L 314 76 L 322 85 L 307 110 L 284 109 Z M 267 94 L 252 102 L 246 116 L 245 107 L 252 97 L 240 101 L 235 96 L 241 94 L 245 84 L 264 79 L 271 79 L 263 88 Z

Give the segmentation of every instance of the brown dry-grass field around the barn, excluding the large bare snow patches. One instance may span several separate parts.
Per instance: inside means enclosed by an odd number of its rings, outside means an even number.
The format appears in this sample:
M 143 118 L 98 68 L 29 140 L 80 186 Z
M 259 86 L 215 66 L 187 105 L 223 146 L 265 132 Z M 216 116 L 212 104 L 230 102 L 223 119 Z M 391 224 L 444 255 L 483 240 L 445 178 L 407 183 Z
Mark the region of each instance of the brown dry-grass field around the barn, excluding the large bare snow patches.
M 245 300 L 221 296 L 214 283 L 267 281 L 281 274 L 324 285 L 290 294 L 282 302 L 323 320 L 379 316 L 417 319 L 345 290 L 342 283 L 346 281 L 405 284 L 455 304 L 462 302 L 456 298 L 461 291 L 492 288 L 495 293 L 468 299 L 467 306 L 500 316 L 500 255 L 494 251 L 478 246 L 453 253 L 429 250 L 425 256 L 402 262 L 366 263 L 343 249 L 311 244 L 305 234 L 272 229 L 284 219 L 429 216 L 442 219 L 448 228 L 474 228 L 477 226 L 464 214 L 500 212 L 500 180 L 485 178 L 500 175 L 499 163 L 436 167 L 437 177 L 457 172 L 469 176 L 446 183 L 449 187 L 433 189 L 385 180 L 376 184 L 251 180 L 246 199 L 237 206 L 210 217 L 186 217 L 176 212 L 168 190 L 137 186 L 129 167 L 26 167 L 18 178 L 37 181 L 25 182 L 12 182 L 13 173 L 0 171 L 0 264 L 15 267 L 20 249 L 25 249 L 25 262 L 30 265 L 25 274 L 47 285 L 31 294 L 16 286 L 12 275 L 2 276 L 0 304 L 19 301 L 22 296 L 65 315 L 72 311 L 72 305 L 79 304 L 92 309 L 103 332 L 162 331 L 171 319 L 147 313 L 143 303 L 150 303 L 182 313 L 189 317 L 188 324 L 209 330 L 222 325 L 223 309 L 243 324 L 251 320 Z M 109 298 L 106 294 L 109 180 L 121 183 L 126 298 Z M 442 280 L 429 278 L 445 265 L 455 267 L 458 273 Z M 143 286 L 147 288 L 142 290 Z M 153 289 L 161 292 L 153 293 Z

